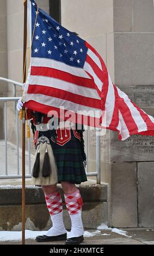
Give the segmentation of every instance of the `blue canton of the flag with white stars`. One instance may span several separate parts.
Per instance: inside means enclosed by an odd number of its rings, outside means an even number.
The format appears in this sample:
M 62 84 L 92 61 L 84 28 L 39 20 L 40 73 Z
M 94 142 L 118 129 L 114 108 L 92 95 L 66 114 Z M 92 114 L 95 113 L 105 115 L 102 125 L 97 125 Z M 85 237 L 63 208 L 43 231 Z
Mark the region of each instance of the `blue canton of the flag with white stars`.
M 32 34 L 37 5 L 32 3 Z M 83 68 L 88 48 L 85 41 L 62 27 L 51 16 L 39 9 L 32 44 L 32 57 L 48 58 L 67 65 Z

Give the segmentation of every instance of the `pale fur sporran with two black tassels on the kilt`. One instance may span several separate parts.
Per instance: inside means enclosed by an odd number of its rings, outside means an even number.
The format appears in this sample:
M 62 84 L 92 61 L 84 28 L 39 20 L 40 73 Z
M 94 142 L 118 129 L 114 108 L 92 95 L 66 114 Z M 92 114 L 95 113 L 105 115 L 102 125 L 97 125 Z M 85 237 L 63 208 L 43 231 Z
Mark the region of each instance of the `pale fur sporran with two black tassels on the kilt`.
M 47 137 L 38 139 L 32 170 L 33 185 L 47 186 L 57 184 L 57 166 L 52 147 Z

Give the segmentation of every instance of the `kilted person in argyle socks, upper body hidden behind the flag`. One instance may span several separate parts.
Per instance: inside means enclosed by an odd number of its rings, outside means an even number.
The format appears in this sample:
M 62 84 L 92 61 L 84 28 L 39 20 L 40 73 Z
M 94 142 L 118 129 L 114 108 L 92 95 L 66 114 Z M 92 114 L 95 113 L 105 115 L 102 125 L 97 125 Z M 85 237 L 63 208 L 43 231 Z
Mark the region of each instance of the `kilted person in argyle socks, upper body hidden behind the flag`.
M 20 99 L 17 110 L 20 111 L 22 106 Z M 81 216 L 83 202 L 75 184 L 87 181 L 84 169 L 86 164 L 84 130 L 77 130 L 76 124 L 67 125 L 63 121 L 58 121 L 56 128 L 56 124 L 53 123 L 54 121 L 57 123 L 57 120 L 30 109 L 27 109 L 27 119 L 32 119 L 32 130 L 35 131 L 36 154 L 32 181 L 34 185 L 42 186 L 44 190 L 46 205 L 53 224 L 46 235 L 37 236 L 36 241 L 66 240 L 66 244 L 79 244 L 83 241 L 84 231 Z M 52 127 L 50 122 L 53 124 Z M 64 227 L 63 205 L 57 183 L 61 183 L 64 190 L 65 204 L 71 218 L 72 227 L 68 235 Z

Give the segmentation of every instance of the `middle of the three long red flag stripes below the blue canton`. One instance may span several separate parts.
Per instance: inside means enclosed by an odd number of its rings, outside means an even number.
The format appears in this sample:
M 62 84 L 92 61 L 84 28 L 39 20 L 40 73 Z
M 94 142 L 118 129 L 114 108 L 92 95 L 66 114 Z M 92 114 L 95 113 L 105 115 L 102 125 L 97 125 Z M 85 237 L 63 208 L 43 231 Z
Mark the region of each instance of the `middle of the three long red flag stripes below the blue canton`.
M 28 94 L 42 94 L 47 96 L 56 97 L 58 99 L 63 99 L 67 101 L 71 101 L 77 103 L 79 105 L 93 107 L 97 109 L 101 109 L 101 100 L 96 100 L 90 97 L 85 97 L 82 95 L 77 95 L 74 93 L 66 92 L 62 89 L 47 87 L 47 86 L 39 86 L 36 84 L 29 84 Z M 52 102 L 51 102 L 52 103 Z

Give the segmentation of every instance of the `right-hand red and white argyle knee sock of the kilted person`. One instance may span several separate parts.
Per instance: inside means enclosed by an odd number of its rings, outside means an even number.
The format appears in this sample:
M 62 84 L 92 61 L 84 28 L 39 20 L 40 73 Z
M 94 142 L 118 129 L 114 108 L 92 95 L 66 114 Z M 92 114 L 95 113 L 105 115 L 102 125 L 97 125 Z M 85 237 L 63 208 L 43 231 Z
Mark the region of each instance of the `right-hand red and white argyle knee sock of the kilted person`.
M 67 238 L 78 237 L 83 235 L 82 223 L 82 197 L 77 189 L 73 193 L 65 193 L 65 204 L 71 218 L 71 231 L 67 234 Z

